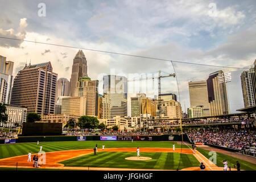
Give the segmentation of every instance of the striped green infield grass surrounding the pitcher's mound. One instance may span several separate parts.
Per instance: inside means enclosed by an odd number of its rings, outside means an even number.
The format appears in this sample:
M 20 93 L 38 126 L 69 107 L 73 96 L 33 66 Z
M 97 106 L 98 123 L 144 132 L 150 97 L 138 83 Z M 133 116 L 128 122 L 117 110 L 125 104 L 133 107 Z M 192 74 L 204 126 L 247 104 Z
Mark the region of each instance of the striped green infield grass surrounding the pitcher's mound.
M 172 169 L 179 166 L 180 153 L 173 152 L 141 152 L 141 156 L 151 160 L 126 160 L 137 156 L 136 152 L 98 152 L 60 162 L 68 167 L 108 167 L 108 168 L 138 168 L 138 169 Z M 199 167 L 199 161 L 192 154 L 181 154 L 179 169 Z

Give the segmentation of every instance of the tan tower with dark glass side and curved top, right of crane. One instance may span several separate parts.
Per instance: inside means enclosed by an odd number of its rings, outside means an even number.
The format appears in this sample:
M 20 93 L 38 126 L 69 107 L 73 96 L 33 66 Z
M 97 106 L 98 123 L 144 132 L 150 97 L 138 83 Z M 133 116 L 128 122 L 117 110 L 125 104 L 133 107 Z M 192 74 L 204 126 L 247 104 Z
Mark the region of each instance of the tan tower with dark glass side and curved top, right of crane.
M 210 115 L 229 114 L 228 92 L 226 82 L 230 78 L 223 71 L 211 73 L 207 79 Z

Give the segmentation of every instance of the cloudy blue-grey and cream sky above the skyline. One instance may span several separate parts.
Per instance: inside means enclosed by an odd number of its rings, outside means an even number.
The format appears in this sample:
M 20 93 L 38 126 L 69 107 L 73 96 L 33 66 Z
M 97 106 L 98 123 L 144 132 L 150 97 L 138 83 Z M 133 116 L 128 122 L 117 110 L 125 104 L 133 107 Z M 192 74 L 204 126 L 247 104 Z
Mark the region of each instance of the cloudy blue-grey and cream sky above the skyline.
M 40 3 L 46 5 L 46 14 Z M 241 72 L 256 59 L 256 2 L 251 1 L 6 1 L 1 0 L 0 36 L 98 49 L 174 61 L 241 67 L 230 69 L 174 63 L 180 102 L 189 107 L 188 81 L 206 80 L 222 69 L 231 72 L 230 111 L 243 107 Z M 42 16 L 43 15 L 43 16 Z M 14 61 L 14 75 L 30 62 L 51 61 L 58 77 L 71 77 L 79 49 L 0 38 L 0 55 Z M 152 77 L 174 73 L 169 61 L 84 51 L 88 75 L 101 80 L 114 73 Z M 162 93 L 176 93 L 173 77 L 162 78 Z M 129 96 L 138 91 L 154 97 L 156 80 L 129 82 Z M 100 93 L 102 84 L 100 84 Z

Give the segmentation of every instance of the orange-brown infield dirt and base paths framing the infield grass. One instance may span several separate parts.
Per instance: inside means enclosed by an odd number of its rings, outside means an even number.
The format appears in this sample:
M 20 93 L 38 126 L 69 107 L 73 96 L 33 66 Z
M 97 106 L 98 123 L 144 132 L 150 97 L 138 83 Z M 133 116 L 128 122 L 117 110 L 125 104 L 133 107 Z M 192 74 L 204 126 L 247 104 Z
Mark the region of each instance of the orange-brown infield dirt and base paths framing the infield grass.
M 210 162 L 204 155 L 200 154 L 200 152 L 192 151 L 189 148 L 176 148 L 175 151 L 172 148 L 140 148 L 141 152 L 179 152 L 182 154 L 193 154 L 199 162 L 204 162 L 205 166 L 208 170 L 222 170 L 223 168 L 217 167 L 215 164 Z M 137 154 L 137 148 L 105 148 L 104 151 L 99 150 L 98 152 L 134 152 Z M 47 152 L 46 153 L 46 164 L 40 165 L 40 168 L 48 168 L 48 169 L 81 169 L 87 170 L 86 167 L 64 167 L 64 164 L 60 164 L 64 160 L 77 158 L 82 155 L 92 154 L 93 149 L 84 149 L 84 150 L 68 150 L 68 151 L 56 151 L 56 152 Z M 32 156 L 38 154 L 32 154 Z M 135 157 L 137 158 L 137 157 Z M 18 167 L 21 168 L 32 168 L 32 162 L 27 162 L 27 155 L 15 156 L 11 158 L 0 159 L 0 167 L 16 167 L 16 163 L 18 163 Z M 90 168 L 90 170 L 134 170 L 134 169 L 126 169 L 126 168 Z M 139 169 L 137 169 L 139 170 Z M 151 169 L 143 169 L 143 170 L 151 170 Z M 193 168 L 185 168 L 183 170 L 189 171 L 198 171 L 199 167 Z

